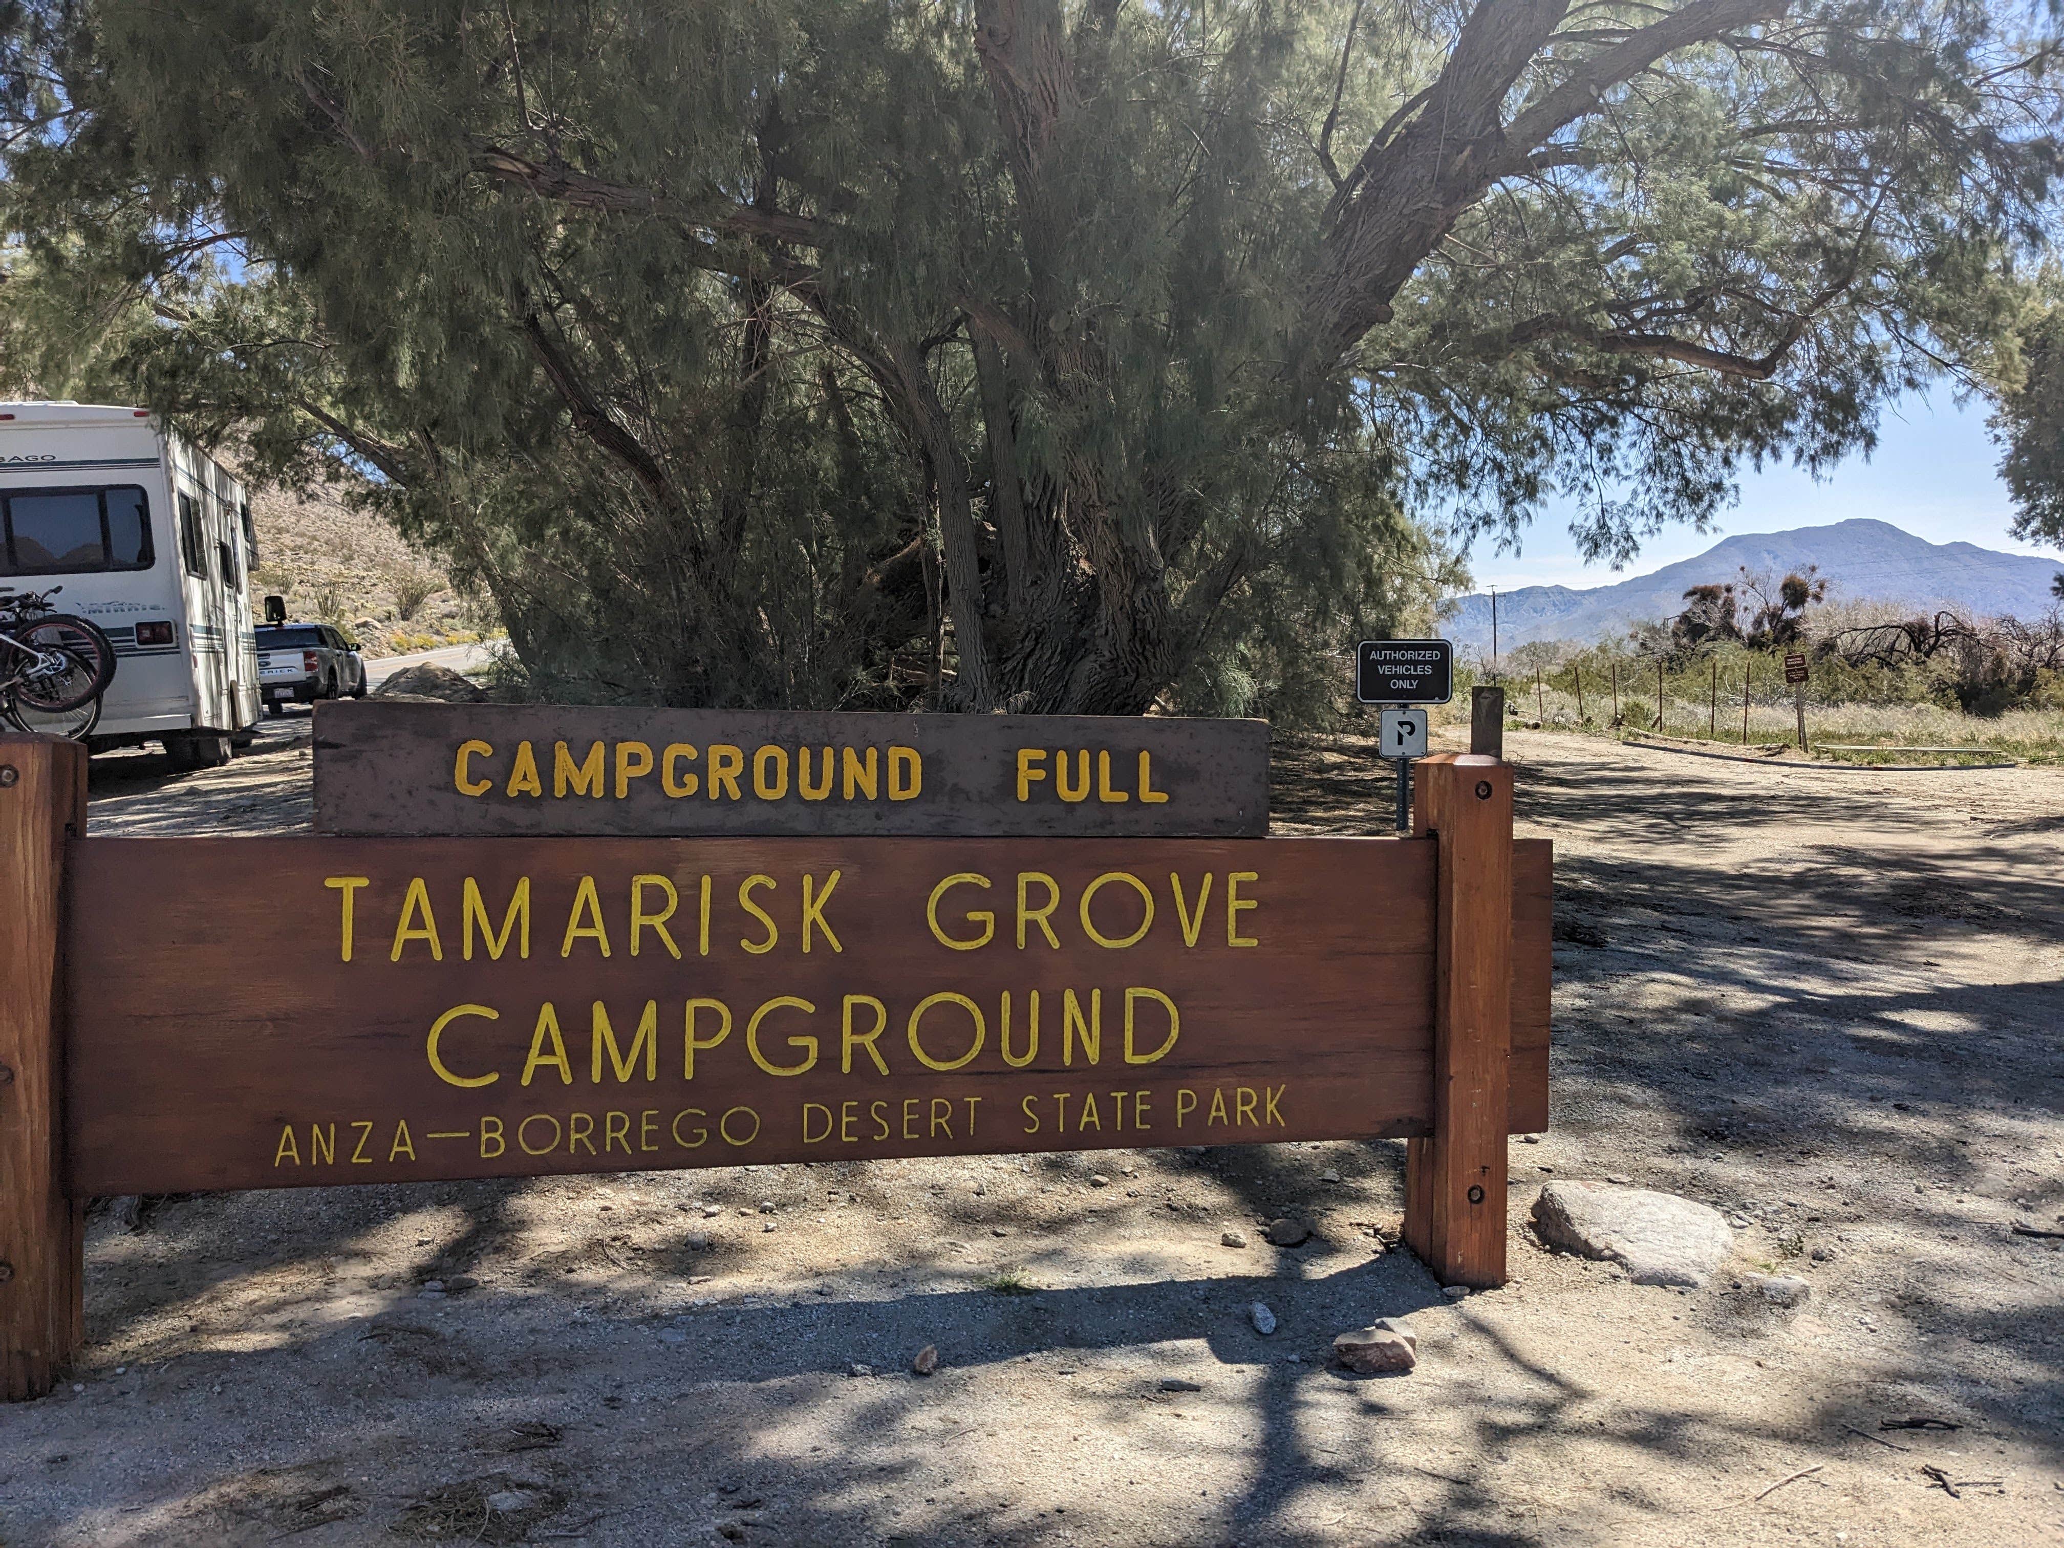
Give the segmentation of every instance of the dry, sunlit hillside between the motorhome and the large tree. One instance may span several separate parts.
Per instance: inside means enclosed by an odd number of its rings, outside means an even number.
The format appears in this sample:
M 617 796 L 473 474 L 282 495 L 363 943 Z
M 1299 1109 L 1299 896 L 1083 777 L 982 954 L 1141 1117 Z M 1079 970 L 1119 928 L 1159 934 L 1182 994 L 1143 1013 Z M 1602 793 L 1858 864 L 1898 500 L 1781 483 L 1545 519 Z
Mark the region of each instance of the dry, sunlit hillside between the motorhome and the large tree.
M 258 526 L 254 607 L 266 592 L 287 599 L 293 619 L 341 623 L 369 656 L 477 640 L 483 621 L 452 590 L 433 559 L 411 549 L 372 512 L 330 489 L 301 497 L 252 495 Z

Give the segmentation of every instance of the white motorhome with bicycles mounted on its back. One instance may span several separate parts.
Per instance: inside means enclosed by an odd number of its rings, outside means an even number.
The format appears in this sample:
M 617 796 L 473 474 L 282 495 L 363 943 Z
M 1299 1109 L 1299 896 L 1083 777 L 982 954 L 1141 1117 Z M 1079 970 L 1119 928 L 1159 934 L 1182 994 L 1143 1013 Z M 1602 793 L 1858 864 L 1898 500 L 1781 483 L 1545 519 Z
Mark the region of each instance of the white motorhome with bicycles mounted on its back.
M 227 762 L 258 724 L 244 487 L 149 409 L 0 402 L 0 590 L 64 590 L 116 646 L 95 751 Z

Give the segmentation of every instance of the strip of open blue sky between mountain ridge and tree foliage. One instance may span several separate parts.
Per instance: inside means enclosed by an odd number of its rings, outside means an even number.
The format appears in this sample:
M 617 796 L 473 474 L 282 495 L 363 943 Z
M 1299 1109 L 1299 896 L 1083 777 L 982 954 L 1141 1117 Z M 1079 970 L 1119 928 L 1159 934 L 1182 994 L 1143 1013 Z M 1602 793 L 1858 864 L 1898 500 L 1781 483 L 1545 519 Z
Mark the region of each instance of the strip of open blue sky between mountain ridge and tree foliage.
M 1688 526 L 1653 539 L 1620 572 L 1577 557 L 1569 508 L 1554 508 L 1527 528 L 1517 553 L 1496 553 L 1480 541 L 1470 555 L 1478 590 L 1496 586 L 1610 586 L 1628 576 L 1705 553 L 1732 533 L 1783 533 L 1827 526 L 1851 516 L 1903 526 L 1930 543 L 1977 543 L 2002 553 L 2056 555 L 2056 547 L 2017 543 L 2006 535 L 2014 506 L 2000 483 L 2000 450 L 1986 436 L 1986 405 L 1959 407 L 1946 390 L 1909 396 L 1878 425 L 1878 446 L 1843 460 L 1825 481 L 1796 469 L 1771 469 L 1742 479 L 1742 497 L 1713 533 Z

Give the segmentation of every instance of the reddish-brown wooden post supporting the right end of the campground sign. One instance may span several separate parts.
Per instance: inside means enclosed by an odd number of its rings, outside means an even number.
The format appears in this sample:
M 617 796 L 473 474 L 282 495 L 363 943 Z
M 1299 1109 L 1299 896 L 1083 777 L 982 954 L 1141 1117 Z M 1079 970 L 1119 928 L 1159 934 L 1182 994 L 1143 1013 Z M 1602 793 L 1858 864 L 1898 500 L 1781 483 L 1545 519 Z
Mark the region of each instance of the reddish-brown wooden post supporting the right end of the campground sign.
M 1478 753 L 1418 764 L 1434 863 L 1432 1135 L 1406 1146 L 1406 1245 L 1441 1284 L 1505 1284 L 1513 1044 L 1513 770 Z

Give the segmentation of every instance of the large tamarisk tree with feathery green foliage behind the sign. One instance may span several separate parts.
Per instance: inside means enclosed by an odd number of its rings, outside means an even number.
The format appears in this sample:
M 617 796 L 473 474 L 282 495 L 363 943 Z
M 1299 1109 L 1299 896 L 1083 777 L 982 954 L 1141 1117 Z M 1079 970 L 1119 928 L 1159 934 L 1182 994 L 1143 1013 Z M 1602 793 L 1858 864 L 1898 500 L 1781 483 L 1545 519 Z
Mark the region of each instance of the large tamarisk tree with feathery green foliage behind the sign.
M 1624 559 L 1986 369 L 2056 163 L 1973 0 L 0 19 L 8 384 L 683 704 L 1292 712 L 1550 493 Z

